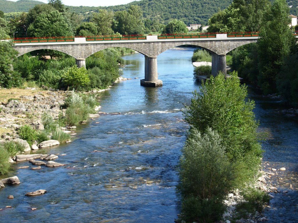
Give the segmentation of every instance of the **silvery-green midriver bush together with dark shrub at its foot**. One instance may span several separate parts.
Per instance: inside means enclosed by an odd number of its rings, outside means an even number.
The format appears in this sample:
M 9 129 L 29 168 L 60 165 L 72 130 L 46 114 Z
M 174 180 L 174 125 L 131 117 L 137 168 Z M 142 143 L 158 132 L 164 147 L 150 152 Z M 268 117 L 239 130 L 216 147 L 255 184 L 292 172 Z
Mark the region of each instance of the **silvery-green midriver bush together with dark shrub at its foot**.
M 224 212 L 224 196 L 235 178 L 220 136 L 211 128 L 205 132 L 190 130 L 179 161 L 177 191 L 182 197 L 181 219 L 187 222 L 219 220 Z

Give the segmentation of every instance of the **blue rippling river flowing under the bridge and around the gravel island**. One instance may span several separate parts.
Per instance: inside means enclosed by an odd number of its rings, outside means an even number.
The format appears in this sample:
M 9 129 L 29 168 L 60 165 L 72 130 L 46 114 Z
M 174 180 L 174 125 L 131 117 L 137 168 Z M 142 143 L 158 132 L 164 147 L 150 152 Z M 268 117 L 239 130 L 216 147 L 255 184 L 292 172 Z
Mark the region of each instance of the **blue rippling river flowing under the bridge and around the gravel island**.
M 79 127 L 72 143 L 47 149 L 47 153 L 67 154 L 57 159 L 66 166 L 31 170 L 16 169 L 27 162 L 13 165 L 8 176 L 17 175 L 21 184 L 1 189 L 0 208 L 12 208 L 0 211 L 0 222 L 173 222 L 179 213 L 176 165 L 188 129 L 181 109 L 199 89 L 193 80 L 192 54 L 193 48 L 160 54 L 163 86 L 158 88 L 140 86 L 142 54 L 124 56 L 123 76 L 132 80 L 100 93 L 101 111 L 109 114 Z M 287 168 L 281 173 L 282 184 L 278 176 L 271 180 L 289 192 L 274 195 L 272 208 L 265 212 L 272 216 L 270 222 L 282 222 L 281 213 L 289 213 L 288 219 L 297 213 L 297 179 L 293 178 L 298 124 L 278 114 L 277 103 L 254 92 L 250 95 L 256 100 L 261 129 L 270 132 L 263 147 L 264 162 Z M 47 193 L 24 196 L 38 189 Z M 7 199 L 10 194 L 14 199 Z M 285 222 L 291 222 L 288 219 Z

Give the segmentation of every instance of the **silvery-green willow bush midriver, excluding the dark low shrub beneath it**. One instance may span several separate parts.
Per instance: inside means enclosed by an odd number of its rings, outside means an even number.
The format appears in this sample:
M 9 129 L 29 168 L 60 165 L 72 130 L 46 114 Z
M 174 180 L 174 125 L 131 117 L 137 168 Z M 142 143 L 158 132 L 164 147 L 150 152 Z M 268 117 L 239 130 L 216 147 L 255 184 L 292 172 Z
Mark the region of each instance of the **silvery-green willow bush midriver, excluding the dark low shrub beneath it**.
M 225 154 L 220 136 L 207 128 L 203 135 L 192 128 L 182 149 L 177 186 L 182 197 L 224 197 L 232 188 L 234 169 Z

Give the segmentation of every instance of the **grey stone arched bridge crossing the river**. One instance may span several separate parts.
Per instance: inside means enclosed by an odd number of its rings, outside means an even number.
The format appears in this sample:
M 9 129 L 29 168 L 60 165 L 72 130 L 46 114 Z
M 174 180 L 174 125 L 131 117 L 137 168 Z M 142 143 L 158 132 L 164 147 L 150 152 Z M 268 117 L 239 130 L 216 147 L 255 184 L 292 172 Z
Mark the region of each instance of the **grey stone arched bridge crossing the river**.
M 195 45 L 212 54 L 212 75 L 219 71 L 226 74 L 226 54 L 231 50 L 249 43 L 256 43 L 257 36 L 228 37 L 227 34 L 214 34 L 208 38 L 191 39 L 158 39 L 158 36 L 147 36 L 146 40 L 111 40 L 86 41 L 85 37 L 74 38 L 74 42 L 55 43 L 16 43 L 13 47 L 19 52 L 18 56 L 40 49 L 57 50 L 76 59 L 78 67 L 86 66 L 85 59 L 97 51 L 111 47 L 125 47 L 133 49 L 145 56 L 145 78 L 141 85 L 162 86 L 158 79 L 157 56 L 162 52 L 181 45 Z

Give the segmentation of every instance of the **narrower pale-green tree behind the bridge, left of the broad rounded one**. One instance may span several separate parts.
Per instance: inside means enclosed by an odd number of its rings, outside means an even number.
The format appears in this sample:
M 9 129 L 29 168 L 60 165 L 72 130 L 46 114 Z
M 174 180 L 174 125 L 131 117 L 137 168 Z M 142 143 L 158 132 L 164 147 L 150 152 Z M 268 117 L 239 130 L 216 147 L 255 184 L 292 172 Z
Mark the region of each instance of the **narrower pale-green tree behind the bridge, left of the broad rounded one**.
M 113 12 L 100 9 L 98 12 L 92 14 L 91 22 L 97 26 L 97 33 L 99 35 L 110 35 L 114 31 L 112 29 Z

